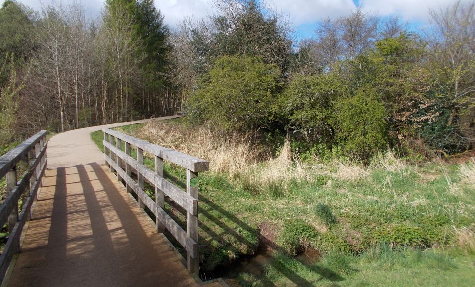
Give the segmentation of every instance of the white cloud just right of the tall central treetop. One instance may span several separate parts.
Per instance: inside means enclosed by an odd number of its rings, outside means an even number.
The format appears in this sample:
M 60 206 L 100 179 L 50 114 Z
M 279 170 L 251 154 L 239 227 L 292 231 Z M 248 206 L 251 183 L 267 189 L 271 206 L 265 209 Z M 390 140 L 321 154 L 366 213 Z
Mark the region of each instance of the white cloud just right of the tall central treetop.
M 294 25 L 347 15 L 356 8 L 352 0 L 263 0 L 290 17 Z

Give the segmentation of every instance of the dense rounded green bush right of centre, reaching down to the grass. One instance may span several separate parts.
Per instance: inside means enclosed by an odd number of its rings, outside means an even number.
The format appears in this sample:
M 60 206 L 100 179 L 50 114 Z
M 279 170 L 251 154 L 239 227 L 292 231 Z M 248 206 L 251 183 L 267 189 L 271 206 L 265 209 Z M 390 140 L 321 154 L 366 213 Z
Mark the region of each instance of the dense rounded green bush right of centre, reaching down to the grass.
M 362 88 L 355 96 L 338 101 L 334 117 L 344 152 L 368 160 L 378 149 L 386 148 L 386 109 L 374 89 Z

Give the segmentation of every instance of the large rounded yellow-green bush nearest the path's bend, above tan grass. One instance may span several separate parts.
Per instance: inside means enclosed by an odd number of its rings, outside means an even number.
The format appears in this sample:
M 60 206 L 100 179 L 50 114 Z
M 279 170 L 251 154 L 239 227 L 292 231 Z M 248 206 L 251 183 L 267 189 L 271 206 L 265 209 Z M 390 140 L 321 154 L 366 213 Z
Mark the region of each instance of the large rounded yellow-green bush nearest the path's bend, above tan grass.
M 188 101 L 190 120 L 224 130 L 257 131 L 273 120 L 280 69 L 259 58 L 224 56 Z

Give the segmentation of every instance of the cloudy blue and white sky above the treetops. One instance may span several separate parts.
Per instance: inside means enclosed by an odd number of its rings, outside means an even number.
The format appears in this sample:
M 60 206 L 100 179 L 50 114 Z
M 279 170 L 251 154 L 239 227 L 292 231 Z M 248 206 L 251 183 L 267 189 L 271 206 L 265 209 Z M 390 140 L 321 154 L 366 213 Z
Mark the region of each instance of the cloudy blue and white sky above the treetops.
M 0 0 L 3 2 L 3 0 Z M 53 0 L 17 0 L 32 8 L 39 9 L 42 4 Z M 58 0 L 55 0 L 56 2 Z M 63 0 L 67 1 L 67 0 Z M 103 0 L 78 0 L 91 14 L 97 14 Z M 357 7 L 365 12 L 376 13 L 381 17 L 397 14 L 414 30 L 426 25 L 430 19 L 429 11 L 439 10 L 456 0 L 260 0 L 266 6 L 282 13 L 293 24 L 297 39 L 312 37 L 317 23 L 327 18 L 335 19 L 348 15 Z M 470 2 L 472 0 L 461 0 Z M 175 27 L 184 17 L 205 18 L 214 11 L 213 0 L 155 0 L 155 5 L 165 17 L 165 23 Z

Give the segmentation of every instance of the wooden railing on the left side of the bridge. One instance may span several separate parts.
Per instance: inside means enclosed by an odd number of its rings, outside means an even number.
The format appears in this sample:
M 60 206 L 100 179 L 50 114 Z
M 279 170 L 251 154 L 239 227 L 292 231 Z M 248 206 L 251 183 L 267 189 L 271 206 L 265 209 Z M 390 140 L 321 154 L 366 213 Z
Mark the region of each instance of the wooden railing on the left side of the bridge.
M 0 180 L 6 177 L 8 192 L 0 205 L 0 226 L 8 222 L 9 230 L 8 241 L 0 256 L 0 281 L 3 281 L 13 255 L 20 250 L 20 235 L 30 219 L 31 205 L 45 174 L 46 147 L 46 130 L 42 130 L 0 157 Z M 18 173 L 21 173 L 20 177 Z M 18 206 L 20 198 L 21 209 Z

